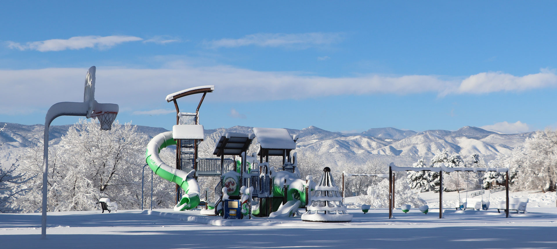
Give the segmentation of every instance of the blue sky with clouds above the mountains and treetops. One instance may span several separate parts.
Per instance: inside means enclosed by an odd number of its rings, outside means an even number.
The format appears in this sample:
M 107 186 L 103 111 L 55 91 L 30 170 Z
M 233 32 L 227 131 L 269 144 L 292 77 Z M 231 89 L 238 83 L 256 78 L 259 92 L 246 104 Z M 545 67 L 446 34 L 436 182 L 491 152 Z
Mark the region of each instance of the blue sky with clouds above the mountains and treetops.
M 169 93 L 214 84 L 206 128 L 361 132 L 556 127 L 550 1 L 23 2 L 0 9 L 0 121 L 56 102 L 118 103 L 170 129 Z M 180 99 L 194 111 L 198 98 Z M 76 122 L 57 118 L 54 125 Z

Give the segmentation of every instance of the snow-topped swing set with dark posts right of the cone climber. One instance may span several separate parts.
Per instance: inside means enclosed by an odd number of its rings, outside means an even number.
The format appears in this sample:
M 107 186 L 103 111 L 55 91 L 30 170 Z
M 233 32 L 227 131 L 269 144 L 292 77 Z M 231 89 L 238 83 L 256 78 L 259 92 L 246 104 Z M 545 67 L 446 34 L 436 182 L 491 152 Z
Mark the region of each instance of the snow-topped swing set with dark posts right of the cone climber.
M 439 173 L 439 218 L 443 218 L 443 172 L 481 172 L 481 171 L 493 171 L 493 172 L 505 172 L 506 173 L 506 183 L 505 183 L 505 190 L 506 190 L 506 202 L 503 203 L 505 208 L 501 208 L 505 210 L 506 217 L 509 217 L 509 168 L 479 168 L 479 167 L 446 167 L 441 165 L 441 167 L 398 167 L 395 166 L 394 163 L 390 163 L 389 165 L 389 218 L 393 217 L 393 208 L 395 207 L 394 204 L 394 190 L 395 190 L 395 172 L 400 171 L 432 171 Z M 459 198 L 460 199 L 460 198 Z M 460 201 L 460 200 L 459 200 Z M 468 201 L 468 200 L 467 200 Z M 465 204 L 466 206 L 466 204 Z M 524 205 L 524 209 L 525 209 Z M 459 208 L 459 207 L 457 207 Z M 487 210 L 487 208 L 486 208 Z M 422 211 L 422 210 L 421 210 Z M 424 212 L 424 211 L 422 211 Z M 427 213 L 427 211 L 425 211 Z

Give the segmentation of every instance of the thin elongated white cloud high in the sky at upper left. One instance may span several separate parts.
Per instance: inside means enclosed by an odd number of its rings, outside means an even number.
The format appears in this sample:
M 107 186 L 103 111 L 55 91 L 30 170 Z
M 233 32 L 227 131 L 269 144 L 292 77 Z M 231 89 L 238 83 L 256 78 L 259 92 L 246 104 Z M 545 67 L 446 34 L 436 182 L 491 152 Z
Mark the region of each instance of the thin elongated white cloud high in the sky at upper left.
M 23 50 L 36 50 L 40 52 L 62 51 L 66 49 L 97 48 L 106 49 L 123 42 L 141 41 L 142 38 L 135 36 L 75 36 L 69 39 L 50 39 L 46 41 L 6 42 L 8 48 Z

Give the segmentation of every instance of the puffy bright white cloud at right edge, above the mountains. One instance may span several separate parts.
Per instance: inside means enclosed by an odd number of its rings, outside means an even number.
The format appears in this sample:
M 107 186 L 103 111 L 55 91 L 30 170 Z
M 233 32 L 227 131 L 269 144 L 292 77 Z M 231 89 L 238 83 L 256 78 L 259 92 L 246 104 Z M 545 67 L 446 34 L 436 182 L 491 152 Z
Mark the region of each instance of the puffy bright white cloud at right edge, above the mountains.
M 503 91 L 525 91 L 536 88 L 557 86 L 554 71 L 541 69 L 539 73 L 526 76 L 514 76 L 502 72 L 478 73 L 464 79 L 456 92 L 490 93 Z

